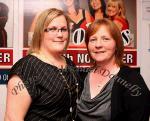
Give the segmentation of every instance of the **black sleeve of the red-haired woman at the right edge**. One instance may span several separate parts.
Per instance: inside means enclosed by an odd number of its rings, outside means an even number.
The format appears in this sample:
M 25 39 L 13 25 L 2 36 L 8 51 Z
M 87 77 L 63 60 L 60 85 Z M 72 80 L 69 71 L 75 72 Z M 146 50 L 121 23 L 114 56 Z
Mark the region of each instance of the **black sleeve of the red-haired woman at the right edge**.
M 150 116 L 150 91 L 139 73 L 131 73 L 132 86 L 124 95 L 127 121 L 148 121 Z

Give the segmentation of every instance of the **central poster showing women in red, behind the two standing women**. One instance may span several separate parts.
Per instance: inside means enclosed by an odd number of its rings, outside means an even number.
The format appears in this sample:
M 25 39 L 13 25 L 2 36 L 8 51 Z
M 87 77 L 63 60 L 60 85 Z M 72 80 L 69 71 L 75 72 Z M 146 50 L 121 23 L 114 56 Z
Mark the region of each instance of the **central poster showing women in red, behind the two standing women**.
M 123 4 L 120 6 L 121 1 Z M 68 46 L 68 57 L 71 57 L 75 64 L 80 65 L 78 62 L 85 63 L 89 61 L 87 57 L 87 50 L 85 46 L 85 32 L 90 23 L 95 19 L 108 18 L 111 19 L 111 5 L 116 5 L 116 10 L 124 9 L 124 17 L 128 21 L 127 28 L 120 29 L 122 37 L 125 42 L 125 50 L 128 54 L 131 54 L 132 61 L 128 61 L 127 64 L 132 65 L 136 63 L 136 0 L 24 0 L 24 48 L 30 46 L 34 24 L 41 11 L 47 8 L 58 8 L 63 10 L 70 18 L 70 43 Z M 120 10 L 119 10 L 120 11 Z M 113 13 L 113 11 L 112 11 Z M 117 15 L 117 18 L 121 18 Z M 113 21 L 113 19 L 111 19 Z M 120 19 L 119 19 L 120 20 Z M 122 19 L 121 19 L 122 20 Z M 120 20 L 120 21 L 121 21 Z M 124 20 L 124 18 L 123 18 Z M 115 20 L 116 21 L 116 20 Z M 117 23 L 117 22 L 116 22 Z M 119 26 L 118 26 L 119 27 Z M 72 51 L 73 50 L 73 51 Z M 84 50 L 84 52 L 82 51 Z M 134 52 L 129 52 L 134 50 Z M 81 53 L 83 52 L 83 53 Z M 80 54 L 74 54 L 80 53 Z M 132 54 L 134 53 L 134 54 Z M 128 54 L 125 54 L 124 60 Z M 25 54 L 24 54 L 25 55 Z M 86 56 L 85 56 L 86 55 Z M 87 58 L 87 59 L 85 59 Z M 86 61 L 87 60 L 87 61 Z M 130 59 L 131 60 L 131 59 Z M 87 64 L 87 65 L 88 65 Z

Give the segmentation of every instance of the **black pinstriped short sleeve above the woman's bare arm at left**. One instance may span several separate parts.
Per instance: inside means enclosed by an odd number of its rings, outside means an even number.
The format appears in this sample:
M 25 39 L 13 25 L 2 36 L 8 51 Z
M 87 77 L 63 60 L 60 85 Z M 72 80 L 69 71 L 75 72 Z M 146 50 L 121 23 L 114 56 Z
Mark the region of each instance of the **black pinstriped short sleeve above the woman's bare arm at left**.
M 24 83 L 28 90 L 32 100 L 37 97 L 36 90 L 36 76 L 34 73 L 33 60 L 32 58 L 22 58 L 20 59 L 10 70 L 9 79 L 13 75 L 17 75 Z M 8 80 L 9 81 L 9 80 Z

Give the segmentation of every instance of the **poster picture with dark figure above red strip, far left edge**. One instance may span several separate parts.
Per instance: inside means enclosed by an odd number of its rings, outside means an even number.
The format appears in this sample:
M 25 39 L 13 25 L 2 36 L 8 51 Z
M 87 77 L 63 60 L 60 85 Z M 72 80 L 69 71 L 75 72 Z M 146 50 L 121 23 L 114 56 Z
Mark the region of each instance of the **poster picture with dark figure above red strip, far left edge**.
M 0 1 L 0 48 L 13 46 L 13 0 Z

